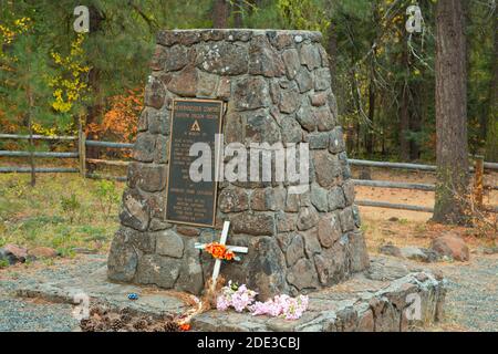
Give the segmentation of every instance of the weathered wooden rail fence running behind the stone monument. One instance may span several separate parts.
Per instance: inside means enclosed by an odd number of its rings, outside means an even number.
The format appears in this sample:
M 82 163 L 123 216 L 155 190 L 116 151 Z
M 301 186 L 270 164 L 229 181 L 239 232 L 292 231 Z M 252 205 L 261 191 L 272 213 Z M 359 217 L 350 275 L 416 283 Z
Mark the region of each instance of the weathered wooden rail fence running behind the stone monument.
M 30 139 L 29 135 L 18 135 L 18 134 L 0 134 L 0 139 Z M 35 167 L 35 174 L 43 173 L 80 173 L 83 178 L 102 178 L 102 179 L 114 179 L 120 181 L 125 181 L 125 176 L 112 176 L 102 175 L 97 173 L 87 173 L 86 164 L 105 165 L 105 166 L 118 166 L 126 167 L 129 162 L 124 160 L 107 160 L 97 158 L 86 158 L 86 147 L 102 147 L 102 148 L 117 148 L 117 149 L 131 149 L 133 144 L 129 143 L 114 143 L 114 142 L 101 142 L 86 139 L 85 134 L 80 125 L 77 136 L 44 136 L 44 135 L 32 135 L 32 139 L 44 139 L 44 140 L 73 140 L 77 142 L 77 152 L 69 153 L 55 153 L 55 152 L 12 152 L 12 150 L 0 150 L 0 157 L 38 157 L 38 158 L 77 158 L 79 167 Z M 486 186 L 483 185 L 484 171 L 495 170 L 498 171 L 498 164 L 484 162 L 481 156 L 475 156 L 476 164 L 475 167 L 470 167 L 469 171 L 475 175 L 475 186 L 474 194 L 475 200 L 480 208 L 485 208 L 488 211 L 498 212 L 497 206 L 484 207 L 483 206 L 483 195 L 485 189 L 498 190 L 497 185 Z M 350 165 L 361 166 L 361 167 L 382 167 L 382 168 L 395 168 L 404 170 L 419 170 L 419 171 L 436 171 L 436 166 L 434 165 L 422 165 L 422 164 L 408 164 L 408 163 L 388 163 L 388 162 L 372 162 L 363 159 L 349 159 Z M 32 173 L 31 167 L 0 167 L 0 173 Z M 365 179 L 353 179 L 354 184 L 357 186 L 367 186 L 374 188 L 396 188 L 396 189 L 412 189 L 412 190 L 424 190 L 434 191 L 436 189 L 435 185 L 432 184 L 415 184 L 415 183 L 401 183 L 401 181 L 390 181 L 390 180 L 365 180 Z M 378 208 L 391 208 L 391 209 L 403 209 L 413 211 L 424 211 L 433 212 L 434 209 L 429 207 L 421 207 L 404 204 L 391 204 L 384 201 L 374 200 L 356 200 L 359 206 L 378 207 Z

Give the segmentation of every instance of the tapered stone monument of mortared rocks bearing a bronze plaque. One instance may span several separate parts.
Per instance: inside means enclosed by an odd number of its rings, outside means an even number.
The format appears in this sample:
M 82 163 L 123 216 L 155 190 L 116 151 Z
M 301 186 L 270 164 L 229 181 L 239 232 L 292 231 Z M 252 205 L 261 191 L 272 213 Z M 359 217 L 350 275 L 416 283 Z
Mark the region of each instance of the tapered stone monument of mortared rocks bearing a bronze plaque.
M 320 40 L 309 31 L 158 33 L 108 256 L 111 280 L 199 294 L 214 261 L 195 243 L 218 240 L 226 220 L 230 243 L 248 253 L 221 274 L 263 300 L 319 290 L 369 266 Z M 186 180 L 185 144 L 212 146 L 218 133 L 224 146 L 307 143 L 307 188 L 290 192 L 292 183 L 274 178 Z

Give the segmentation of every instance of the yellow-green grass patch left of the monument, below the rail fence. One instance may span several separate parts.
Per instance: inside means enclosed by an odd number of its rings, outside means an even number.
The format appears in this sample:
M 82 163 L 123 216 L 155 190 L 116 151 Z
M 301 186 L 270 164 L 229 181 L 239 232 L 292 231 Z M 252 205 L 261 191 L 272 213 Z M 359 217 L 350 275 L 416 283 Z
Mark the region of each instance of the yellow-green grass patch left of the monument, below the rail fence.
M 73 248 L 106 251 L 118 228 L 123 183 L 76 175 L 0 175 L 0 247 L 50 247 L 65 257 Z

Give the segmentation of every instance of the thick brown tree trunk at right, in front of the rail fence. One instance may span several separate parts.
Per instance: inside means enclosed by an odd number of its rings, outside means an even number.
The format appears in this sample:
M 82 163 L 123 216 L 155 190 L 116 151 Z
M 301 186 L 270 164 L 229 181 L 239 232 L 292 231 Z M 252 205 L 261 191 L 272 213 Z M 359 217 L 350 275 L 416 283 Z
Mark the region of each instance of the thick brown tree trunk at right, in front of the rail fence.
M 466 42 L 463 0 L 436 7 L 436 156 L 433 220 L 466 223 L 468 188 Z

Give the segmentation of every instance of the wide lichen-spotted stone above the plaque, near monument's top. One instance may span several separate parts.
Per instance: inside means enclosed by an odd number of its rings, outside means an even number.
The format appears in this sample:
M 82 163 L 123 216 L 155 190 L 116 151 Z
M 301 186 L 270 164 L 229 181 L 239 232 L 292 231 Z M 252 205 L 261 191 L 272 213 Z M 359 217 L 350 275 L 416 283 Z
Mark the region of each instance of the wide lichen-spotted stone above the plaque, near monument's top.
M 214 74 L 240 75 L 247 73 L 249 56 L 246 45 L 212 42 L 198 48 L 197 67 Z

